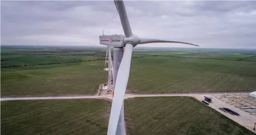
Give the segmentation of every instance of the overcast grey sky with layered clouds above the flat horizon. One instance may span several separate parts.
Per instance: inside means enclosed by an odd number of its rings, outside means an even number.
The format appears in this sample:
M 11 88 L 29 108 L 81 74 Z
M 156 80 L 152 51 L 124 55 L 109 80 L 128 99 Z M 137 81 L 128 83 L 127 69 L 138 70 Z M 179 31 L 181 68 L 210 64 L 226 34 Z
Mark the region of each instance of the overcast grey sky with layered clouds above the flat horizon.
M 102 30 L 123 34 L 112 0 L 1 0 L 0 4 L 1 45 L 99 45 Z M 132 31 L 139 37 L 203 48 L 256 48 L 256 1 L 125 0 L 124 4 Z

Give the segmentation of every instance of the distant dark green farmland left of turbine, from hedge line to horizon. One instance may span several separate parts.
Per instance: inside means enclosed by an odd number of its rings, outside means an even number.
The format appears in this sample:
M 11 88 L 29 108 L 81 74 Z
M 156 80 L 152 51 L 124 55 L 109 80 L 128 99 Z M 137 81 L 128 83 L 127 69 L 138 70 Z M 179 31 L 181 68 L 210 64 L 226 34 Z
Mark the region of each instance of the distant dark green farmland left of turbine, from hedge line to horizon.
M 35 66 L 104 59 L 101 49 L 1 48 L 1 67 Z

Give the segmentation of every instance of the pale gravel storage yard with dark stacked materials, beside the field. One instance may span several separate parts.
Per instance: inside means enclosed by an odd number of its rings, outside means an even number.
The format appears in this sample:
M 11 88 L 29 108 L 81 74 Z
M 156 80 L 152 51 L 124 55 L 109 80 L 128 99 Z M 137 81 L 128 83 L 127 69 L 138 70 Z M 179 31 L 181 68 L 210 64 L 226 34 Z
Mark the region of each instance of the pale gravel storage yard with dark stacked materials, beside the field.
M 192 94 L 190 96 L 193 96 Z M 249 93 L 212 93 L 194 95 L 203 104 L 255 132 L 256 98 Z M 210 100 L 205 100 L 207 98 Z M 210 102 L 209 102 L 210 101 Z

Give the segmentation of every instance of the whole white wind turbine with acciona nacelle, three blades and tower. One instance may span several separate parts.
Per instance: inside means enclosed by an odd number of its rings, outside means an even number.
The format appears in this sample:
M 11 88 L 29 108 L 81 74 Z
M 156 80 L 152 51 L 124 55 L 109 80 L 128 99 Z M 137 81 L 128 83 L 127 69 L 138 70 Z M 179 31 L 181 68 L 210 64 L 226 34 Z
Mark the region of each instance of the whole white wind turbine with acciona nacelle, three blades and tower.
M 194 44 L 160 39 L 139 38 L 132 33 L 123 0 L 114 0 L 114 4 L 120 17 L 124 35 L 102 35 L 99 36 L 99 39 L 101 45 L 114 47 L 114 96 L 110 113 L 108 135 L 124 135 L 123 99 L 130 73 L 133 47 L 138 44 L 147 43 Z M 123 47 L 125 47 L 124 51 Z

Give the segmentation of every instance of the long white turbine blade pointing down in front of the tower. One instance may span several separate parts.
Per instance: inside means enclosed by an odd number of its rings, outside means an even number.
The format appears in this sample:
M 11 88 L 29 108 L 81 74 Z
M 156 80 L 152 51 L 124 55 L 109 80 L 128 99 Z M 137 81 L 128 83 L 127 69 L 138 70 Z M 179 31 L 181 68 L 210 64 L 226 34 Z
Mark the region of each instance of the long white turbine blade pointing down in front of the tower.
M 116 76 L 114 97 L 110 112 L 108 135 L 115 135 L 116 133 L 118 119 L 123 105 L 123 98 L 129 79 L 132 51 L 133 45 L 126 44 L 124 55 Z

